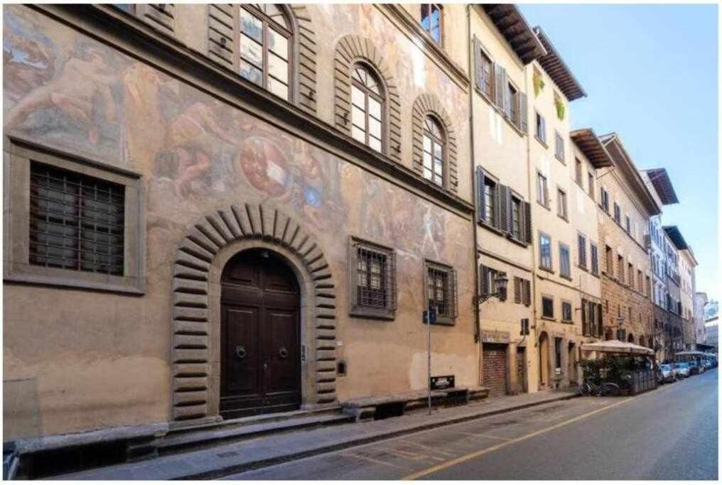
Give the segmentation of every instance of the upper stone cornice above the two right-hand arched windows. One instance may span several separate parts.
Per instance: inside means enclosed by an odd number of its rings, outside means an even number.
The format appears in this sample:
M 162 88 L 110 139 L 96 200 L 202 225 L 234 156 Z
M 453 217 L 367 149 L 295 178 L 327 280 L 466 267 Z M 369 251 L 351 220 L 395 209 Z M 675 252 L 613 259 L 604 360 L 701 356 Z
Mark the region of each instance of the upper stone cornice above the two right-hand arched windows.
M 453 82 L 456 82 L 456 84 L 463 89 L 469 89 L 469 84 L 471 84 L 469 75 L 466 74 L 461 66 L 451 59 L 451 56 L 449 56 L 443 48 L 434 42 L 430 35 L 419 25 L 419 22 L 417 22 L 403 6 L 399 4 L 375 4 L 375 6 L 392 22 L 396 20 L 400 30 L 404 30 L 406 35 L 409 35 L 409 38 L 415 41 L 414 44 L 422 48 L 422 51 L 424 51 L 437 66 L 443 69 Z

